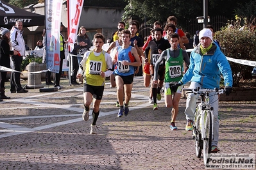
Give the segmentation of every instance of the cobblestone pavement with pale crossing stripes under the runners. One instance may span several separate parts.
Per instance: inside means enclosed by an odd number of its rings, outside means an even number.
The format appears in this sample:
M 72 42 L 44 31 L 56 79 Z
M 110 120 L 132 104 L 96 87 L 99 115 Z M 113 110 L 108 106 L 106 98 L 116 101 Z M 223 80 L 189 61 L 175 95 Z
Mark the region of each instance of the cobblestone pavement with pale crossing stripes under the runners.
M 135 77 L 130 113 L 117 118 L 115 88 L 105 86 L 98 134 L 83 121 L 82 85 L 49 93 L 30 89 L 0 103 L 0 169 L 204 169 L 185 131 L 185 99 L 171 131 L 171 109 L 148 103 L 149 88 Z M 255 102 L 221 102 L 220 153 L 255 153 Z

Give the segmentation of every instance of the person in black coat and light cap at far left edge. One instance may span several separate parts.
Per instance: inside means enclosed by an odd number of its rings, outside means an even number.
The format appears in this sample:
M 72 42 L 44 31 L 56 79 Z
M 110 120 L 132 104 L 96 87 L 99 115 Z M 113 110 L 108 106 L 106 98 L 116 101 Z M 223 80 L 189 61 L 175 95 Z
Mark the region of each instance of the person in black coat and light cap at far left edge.
M 5 66 L 7 68 L 11 68 L 10 66 L 10 55 L 17 55 L 19 52 L 17 50 L 10 50 L 10 31 L 4 27 L 1 27 L 1 39 L 0 39 L 0 65 Z M 1 71 L 0 74 L 0 94 L 1 100 L 9 99 L 10 97 L 6 97 L 4 81 L 6 79 L 7 72 Z

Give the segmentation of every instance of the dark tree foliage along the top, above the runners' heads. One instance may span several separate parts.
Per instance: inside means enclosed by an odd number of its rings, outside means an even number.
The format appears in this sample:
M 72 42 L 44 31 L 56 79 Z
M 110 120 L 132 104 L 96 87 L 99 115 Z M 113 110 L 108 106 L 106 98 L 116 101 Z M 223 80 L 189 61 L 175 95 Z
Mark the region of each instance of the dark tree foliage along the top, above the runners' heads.
M 185 19 L 195 19 L 203 16 L 203 0 L 124 0 L 129 4 L 124 8 L 123 20 L 137 15 L 141 20 L 153 23 L 156 20 L 166 21 L 170 15 L 175 15 L 178 25 Z M 250 0 L 255 1 L 255 0 Z M 245 4 L 241 0 L 209 0 L 209 16 L 224 15 L 234 17 L 234 9 Z M 228 6 L 228 8 L 226 8 Z

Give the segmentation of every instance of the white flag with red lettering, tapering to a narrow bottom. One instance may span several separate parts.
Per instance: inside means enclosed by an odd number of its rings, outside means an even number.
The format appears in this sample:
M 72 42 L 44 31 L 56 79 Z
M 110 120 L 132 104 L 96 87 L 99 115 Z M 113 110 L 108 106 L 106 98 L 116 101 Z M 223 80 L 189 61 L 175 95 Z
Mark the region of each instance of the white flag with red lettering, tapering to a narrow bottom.
M 74 43 L 76 42 L 81 11 L 83 10 L 83 1 L 84 0 L 67 0 L 67 32 L 69 34 L 69 52 L 73 51 Z

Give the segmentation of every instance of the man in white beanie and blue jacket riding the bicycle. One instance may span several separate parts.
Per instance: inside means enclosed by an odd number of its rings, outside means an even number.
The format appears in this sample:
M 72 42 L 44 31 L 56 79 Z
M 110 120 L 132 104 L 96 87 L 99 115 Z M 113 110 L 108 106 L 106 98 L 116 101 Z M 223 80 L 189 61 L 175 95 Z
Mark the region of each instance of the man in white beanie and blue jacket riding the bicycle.
M 226 95 L 232 91 L 232 71 L 226 56 L 221 52 L 216 43 L 212 42 L 212 31 L 210 29 L 202 29 L 199 33 L 200 43 L 191 52 L 190 65 L 187 72 L 183 75 L 182 79 L 175 86 L 180 86 L 191 81 L 190 88 L 200 87 L 201 89 L 214 89 L 219 88 L 221 81 L 221 74 L 224 77 L 224 85 Z M 219 119 L 218 95 L 214 93 L 209 94 L 211 105 L 214 108 L 214 125 L 212 139 L 212 152 L 218 152 L 219 140 Z M 194 112 L 196 111 L 196 98 L 198 95 L 189 93 L 187 97 L 187 104 L 185 115 L 187 125 L 185 130 L 191 131 L 193 129 Z

